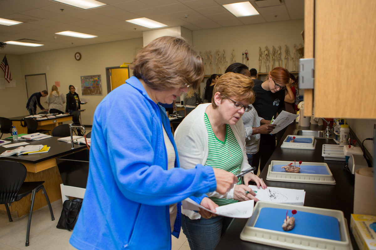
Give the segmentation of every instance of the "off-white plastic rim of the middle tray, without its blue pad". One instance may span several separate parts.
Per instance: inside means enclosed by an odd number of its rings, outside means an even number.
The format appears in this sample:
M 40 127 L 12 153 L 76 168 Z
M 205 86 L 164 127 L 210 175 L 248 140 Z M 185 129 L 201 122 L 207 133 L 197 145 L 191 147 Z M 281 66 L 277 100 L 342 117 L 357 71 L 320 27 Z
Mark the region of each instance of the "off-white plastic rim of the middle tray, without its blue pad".
M 314 183 L 314 184 L 328 184 L 335 185 L 335 180 L 329 166 L 321 162 L 302 162 L 300 166 L 325 166 L 328 175 L 323 174 L 302 174 L 302 173 L 288 173 L 288 172 L 274 172 L 272 171 L 274 165 L 288 165 L 291 162 L 272 160 L 266 179 L 268 181 L 286 181 L 298 183 Z

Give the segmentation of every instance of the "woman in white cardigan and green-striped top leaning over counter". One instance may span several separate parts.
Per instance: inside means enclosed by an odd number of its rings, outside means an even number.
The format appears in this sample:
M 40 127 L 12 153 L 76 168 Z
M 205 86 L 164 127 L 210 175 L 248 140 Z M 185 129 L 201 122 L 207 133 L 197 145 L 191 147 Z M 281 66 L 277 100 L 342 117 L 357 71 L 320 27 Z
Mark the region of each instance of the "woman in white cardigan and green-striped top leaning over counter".
M 251 168 L 244 150 L 244 125 L 241 120 L 249 104 L 255 100 L 253 81 L 237 73 L 225 73 L 215 83 L 211 103 L 197 106 L 177 127 L 175 140 L 180 165 L 194 169 L 197 164 L 224 169 L 233 174 Z M 244 175 L 244 183 L 255 181 L 266 188 L 264 181 L 252 172 Z M 255 192 L 241 180 L 225 195 L 207 193 L 203 198 L 212 207 L 254 199 Z M 214 211 L 214 210 L 212 210 Z M 191 210 L 182 211 L 182 228 L 191 249 L 211 250 L 217 246 L 221 234 L 226 231 L 232 218 L 202 216 Z

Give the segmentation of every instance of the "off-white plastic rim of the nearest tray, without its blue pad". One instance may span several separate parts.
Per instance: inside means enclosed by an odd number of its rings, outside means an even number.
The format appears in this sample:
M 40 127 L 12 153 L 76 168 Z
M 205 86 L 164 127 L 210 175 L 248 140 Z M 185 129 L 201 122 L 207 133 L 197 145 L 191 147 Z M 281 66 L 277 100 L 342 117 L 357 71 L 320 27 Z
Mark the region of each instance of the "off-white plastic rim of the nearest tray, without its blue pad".
M 258 219 L 261 208 L 284 208 L 286 210 L 297 210 L 308 213 L 322 214 L 332 216 L 338 219 L 341 241 L 328 240 L 318 237 L 311 237 L 299 234 L 291 234 L 288 232 L 278 232 L 270 229 L 255 228 L 254 225 Z M 281 222 L 276 222 L 280 223 Z M 332 249 L 332 250 L 352 250 L 352 245 L 349 237 L 349 230 L 343 212 L 340 210 L 331 210 L 324 208 L 300 207 L 295 205 L 279 204 L 273 202 L 258 201 L 253 209 L 253 215 L 249 218 L 246 226 L 240 234 L 240 239 L 244 241 L 251 241 L 255 243 L 265 244 L 269 246 L 282 247 L 285 249 L 296 250 L 318 250 L 318 249 Z

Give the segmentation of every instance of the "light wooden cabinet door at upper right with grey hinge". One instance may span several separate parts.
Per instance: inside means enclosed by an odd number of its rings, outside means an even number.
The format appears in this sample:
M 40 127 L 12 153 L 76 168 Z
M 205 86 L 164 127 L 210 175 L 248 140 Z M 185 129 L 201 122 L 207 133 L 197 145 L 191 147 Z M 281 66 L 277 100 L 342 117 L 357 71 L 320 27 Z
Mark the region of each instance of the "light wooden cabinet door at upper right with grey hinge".
M 315 116 L 376 118 L 376 1 L 315 0 L 314 31 Z

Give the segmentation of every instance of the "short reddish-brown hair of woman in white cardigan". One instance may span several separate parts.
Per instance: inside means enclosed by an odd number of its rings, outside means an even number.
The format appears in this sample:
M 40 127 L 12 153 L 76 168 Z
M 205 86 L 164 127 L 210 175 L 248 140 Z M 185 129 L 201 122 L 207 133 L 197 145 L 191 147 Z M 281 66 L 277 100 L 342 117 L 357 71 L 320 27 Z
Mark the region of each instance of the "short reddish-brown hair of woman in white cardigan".
M 212 97 L 213 108 L 217 108 L 214 102 L 214 94 L 217 92 L 220 93 L 222 100 L 236 96 L 237 100 L 252 104 L 255 102 L 255 92 L 252 88 L 253 81 L 248 76 L 233 72 L 221 75 L 214 85 Z

